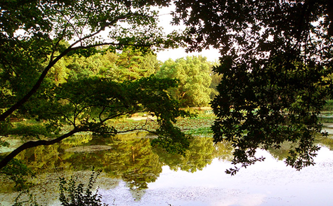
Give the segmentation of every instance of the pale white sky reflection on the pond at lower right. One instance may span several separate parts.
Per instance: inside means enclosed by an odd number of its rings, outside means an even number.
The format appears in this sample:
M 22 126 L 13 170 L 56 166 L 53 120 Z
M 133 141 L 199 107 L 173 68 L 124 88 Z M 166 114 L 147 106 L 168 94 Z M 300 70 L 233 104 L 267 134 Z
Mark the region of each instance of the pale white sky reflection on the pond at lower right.
M 333 204 L 333 152 L 322 147 L 316 165 L 296 171 L 266 151 L 264 162 L 242 169 L 235 176 L 224 171 L 230 162 L 215 158 L 202 171 L 172 171 L 163 166 L 135 202 L 124 182 L 113 190 L 100 190 L 103 200 L 118 206 L 330 206 Z

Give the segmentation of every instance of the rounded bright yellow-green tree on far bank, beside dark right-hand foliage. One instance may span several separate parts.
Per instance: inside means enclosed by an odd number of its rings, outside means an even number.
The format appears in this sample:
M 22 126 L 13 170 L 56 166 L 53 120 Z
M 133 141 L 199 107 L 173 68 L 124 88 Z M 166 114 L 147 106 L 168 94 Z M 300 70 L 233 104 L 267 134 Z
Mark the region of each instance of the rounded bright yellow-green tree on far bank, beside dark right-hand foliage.
M 162 78 L 179 80 L 177 88 L 171 89 L 172 95 L 182 102 L 183 106 L 207 106 L 210 101 L 211 63 L 205 57 L 186 57 L 173 61 L 167 60 L 156 74 Z

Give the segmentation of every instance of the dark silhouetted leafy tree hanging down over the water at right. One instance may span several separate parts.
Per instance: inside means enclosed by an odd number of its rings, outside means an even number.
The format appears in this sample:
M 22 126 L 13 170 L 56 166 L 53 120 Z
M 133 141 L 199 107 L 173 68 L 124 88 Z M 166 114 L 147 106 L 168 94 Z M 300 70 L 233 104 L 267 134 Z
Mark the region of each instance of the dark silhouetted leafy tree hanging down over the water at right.
M 296 143 L 286 163 L 313 164 L 314 136 L 332 98 L 332 0 L 175 1 L 188 50 L 220 49 L 222 79 L 212 102 L 214 141 L 231 142 L 233 163 L 263 160 L 258 148 Z M 239 167 L 228 170 L 235 174 Z

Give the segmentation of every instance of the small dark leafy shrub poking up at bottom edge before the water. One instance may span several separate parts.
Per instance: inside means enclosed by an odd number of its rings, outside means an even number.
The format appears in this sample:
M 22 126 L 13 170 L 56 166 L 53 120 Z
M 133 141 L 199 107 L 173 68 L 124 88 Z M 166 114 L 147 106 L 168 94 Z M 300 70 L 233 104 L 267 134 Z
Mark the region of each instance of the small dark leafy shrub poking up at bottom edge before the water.
M 72 176 L 67 182 L 65 178 L 60 178 L 59 200 L 63 206 L 108 206 L 101 203 L 101 195 L 98 190 L 93 191 L 96 178 L 100 171 L 94 171 L 90 175 L 89 183 L 85 187 L 82 183 L 77 184 L 77 178 Z

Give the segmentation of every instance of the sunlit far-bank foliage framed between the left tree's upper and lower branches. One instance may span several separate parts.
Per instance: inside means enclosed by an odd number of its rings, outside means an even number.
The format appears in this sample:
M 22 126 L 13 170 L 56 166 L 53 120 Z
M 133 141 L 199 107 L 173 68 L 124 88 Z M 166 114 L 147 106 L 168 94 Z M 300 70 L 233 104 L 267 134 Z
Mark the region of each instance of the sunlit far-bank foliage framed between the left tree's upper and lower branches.
M 106 48 L 100 48 L 97 52 L 88 57 L 76 54 L 67 57 L 65 68 L 61 70 L 65 71 L 62 76 L 66 79 L 99 76 L 122 82 L 149 77 L 156 73 L 160 65 L 153 51 L 143 52 L 134 47 L 124 48 L 120 53 Z M 52 75 L 51 73 L 50 76 Z

